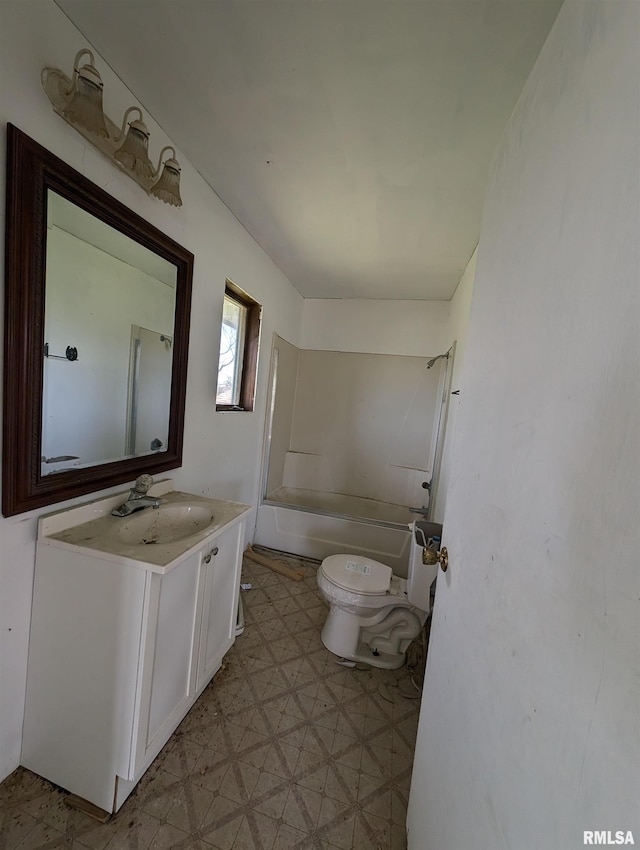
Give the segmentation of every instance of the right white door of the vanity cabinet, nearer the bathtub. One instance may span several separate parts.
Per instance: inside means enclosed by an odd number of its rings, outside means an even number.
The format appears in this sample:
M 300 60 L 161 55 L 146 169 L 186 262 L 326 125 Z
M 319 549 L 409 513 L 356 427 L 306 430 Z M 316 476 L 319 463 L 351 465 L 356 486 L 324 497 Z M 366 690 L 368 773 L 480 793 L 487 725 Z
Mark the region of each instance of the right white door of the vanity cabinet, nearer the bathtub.
M 196 690 L 205 687 L 235 640 L 244 523 L 219 535 L 202 553 L 204 600 Z

